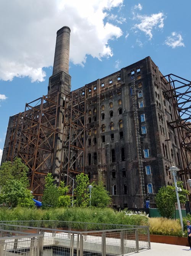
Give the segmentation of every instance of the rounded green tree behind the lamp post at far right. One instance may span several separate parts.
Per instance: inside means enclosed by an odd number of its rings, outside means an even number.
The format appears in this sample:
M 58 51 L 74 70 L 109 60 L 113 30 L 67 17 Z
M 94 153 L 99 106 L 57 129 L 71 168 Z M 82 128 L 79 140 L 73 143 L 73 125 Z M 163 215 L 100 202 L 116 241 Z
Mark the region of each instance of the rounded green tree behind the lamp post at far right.
M 186 203 L 186 195 L 189 194 L 189 191 L 183 188 L 183 182 L 177 182 L 177 187 L 182 190 L 178 192 L 180 203 Z M 172 218 L 175 211 L 175 203 L 177 202 L 175 186 L 161 187 L 155 200 L 161 216 Z

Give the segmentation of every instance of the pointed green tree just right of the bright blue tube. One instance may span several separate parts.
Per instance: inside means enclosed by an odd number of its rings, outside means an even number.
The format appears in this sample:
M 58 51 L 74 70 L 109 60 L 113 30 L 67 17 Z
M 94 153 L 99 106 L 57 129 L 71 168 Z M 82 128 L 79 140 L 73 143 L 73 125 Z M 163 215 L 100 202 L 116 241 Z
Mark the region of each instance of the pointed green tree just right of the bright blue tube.
M 54 178 L 52 176 L 52 173 L 48 173 L 45 177 L 45 186 L 44 186 L 44 192 L 42 196 L 42 208 L 50 208 L 50 207 L 57 207 L 58 205 L 58 188 L 54 183 Z

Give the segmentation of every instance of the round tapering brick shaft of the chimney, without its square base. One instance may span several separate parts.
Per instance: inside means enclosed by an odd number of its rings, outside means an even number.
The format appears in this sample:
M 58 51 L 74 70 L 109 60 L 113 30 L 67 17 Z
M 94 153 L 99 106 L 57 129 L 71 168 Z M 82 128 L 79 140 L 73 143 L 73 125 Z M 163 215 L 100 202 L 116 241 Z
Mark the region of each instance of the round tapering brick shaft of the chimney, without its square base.
M 68 74 L 70 51 L 70 28 L 63 26 L 57 31 L 55 56 L 53 64 L 53 76 L 60 72 Z

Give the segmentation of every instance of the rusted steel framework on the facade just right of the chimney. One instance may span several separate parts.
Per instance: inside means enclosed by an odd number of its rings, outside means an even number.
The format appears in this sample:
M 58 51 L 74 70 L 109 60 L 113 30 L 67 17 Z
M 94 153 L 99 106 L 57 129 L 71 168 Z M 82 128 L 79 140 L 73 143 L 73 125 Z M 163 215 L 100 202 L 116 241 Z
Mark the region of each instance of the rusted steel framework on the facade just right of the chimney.
M 63 126 L 62 169 L 60 180 L 66 176 L 66 185 L 84 172 L 85 142 L 87 137 L 86 109 L 87 88 L 83 87 L 66 95 Z

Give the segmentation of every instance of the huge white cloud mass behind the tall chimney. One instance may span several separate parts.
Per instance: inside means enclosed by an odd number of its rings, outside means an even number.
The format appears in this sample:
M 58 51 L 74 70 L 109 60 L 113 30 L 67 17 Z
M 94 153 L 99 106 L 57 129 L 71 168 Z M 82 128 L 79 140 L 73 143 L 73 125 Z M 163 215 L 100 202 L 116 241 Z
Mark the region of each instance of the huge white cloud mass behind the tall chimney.
M 112 8 L 123 0 L 15 0 L 0 1 L 0 79 L 29 76 L 43 81 L 43 67 L 53 64 L 56 31 L 70 26 L 70 60 L 83 65 L 86 55 L 94 58 L 113 55 L 109 40 L 122 31 L 112 22 L 104 23 Z M 84 8 L 86 7 L 86 8 Z M 9 17 L 9 19 L 7 19 Z M 124 22 L 120 18 L 118 23 Z

